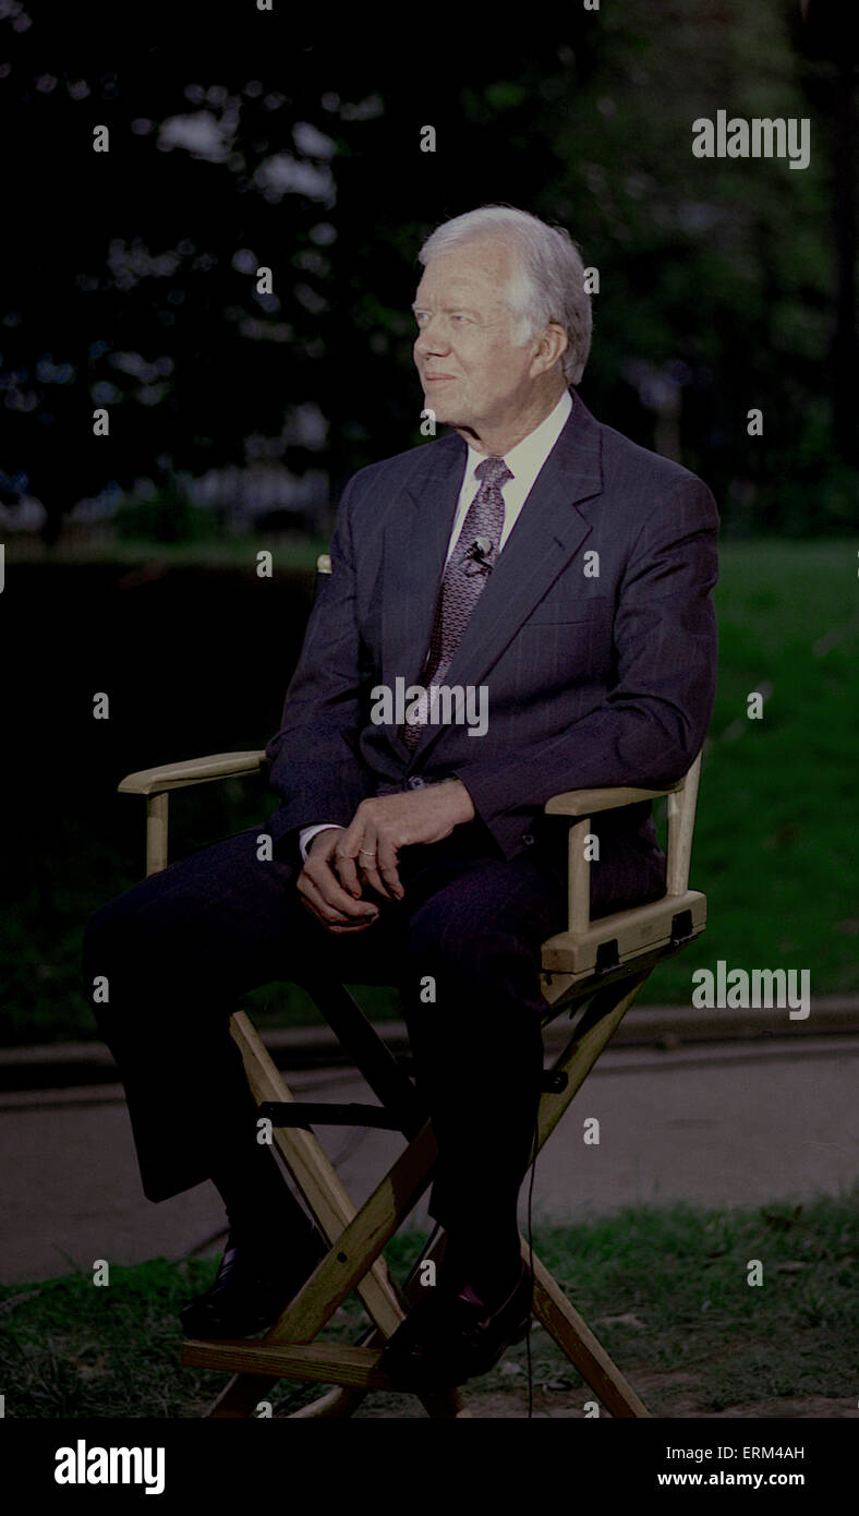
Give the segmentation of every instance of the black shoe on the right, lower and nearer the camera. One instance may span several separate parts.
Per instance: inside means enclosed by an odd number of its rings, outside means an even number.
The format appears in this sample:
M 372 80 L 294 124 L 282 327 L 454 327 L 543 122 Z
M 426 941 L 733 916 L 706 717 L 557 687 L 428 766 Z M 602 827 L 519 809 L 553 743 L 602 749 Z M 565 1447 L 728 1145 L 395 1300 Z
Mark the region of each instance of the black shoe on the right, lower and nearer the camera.
M 532 1280 L 524 1258 L 506 1301 L 494 1310 L 471 1284 L 459 1290 L 439 1280 L 385 1343 L 379 1367 L 405 1390 L 447 1390 L 494 1369 L 527 1334 Z

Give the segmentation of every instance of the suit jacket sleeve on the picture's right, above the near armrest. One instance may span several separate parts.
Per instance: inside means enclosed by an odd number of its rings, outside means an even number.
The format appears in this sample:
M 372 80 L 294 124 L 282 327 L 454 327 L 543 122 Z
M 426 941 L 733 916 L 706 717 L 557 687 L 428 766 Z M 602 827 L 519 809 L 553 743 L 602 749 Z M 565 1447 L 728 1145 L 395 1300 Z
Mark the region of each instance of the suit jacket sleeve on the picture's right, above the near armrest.
M 647 517 L 620 585 L 617 678 L 601 705 L 521 752 L 483 763 L 477 753 L 473 764 L 458 766 L 489 829 L 511 814 L 533 820 L 564 790 L 659 788 L 686 773 L 715 697 L 717 534 L 715 500 L 692 476 Z

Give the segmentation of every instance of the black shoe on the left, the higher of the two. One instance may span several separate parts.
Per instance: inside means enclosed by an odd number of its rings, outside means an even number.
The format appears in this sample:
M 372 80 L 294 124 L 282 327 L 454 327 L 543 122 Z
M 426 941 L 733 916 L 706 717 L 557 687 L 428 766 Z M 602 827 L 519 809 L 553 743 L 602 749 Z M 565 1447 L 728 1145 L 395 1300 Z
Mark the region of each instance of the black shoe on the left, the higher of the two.
M 242 1240 L 230 1231 L 215 1283 L 179 1313 L 186 1337 L 248 1337 L 271 1326 L 329 1251 L 317 1226 L 300 1242 Z

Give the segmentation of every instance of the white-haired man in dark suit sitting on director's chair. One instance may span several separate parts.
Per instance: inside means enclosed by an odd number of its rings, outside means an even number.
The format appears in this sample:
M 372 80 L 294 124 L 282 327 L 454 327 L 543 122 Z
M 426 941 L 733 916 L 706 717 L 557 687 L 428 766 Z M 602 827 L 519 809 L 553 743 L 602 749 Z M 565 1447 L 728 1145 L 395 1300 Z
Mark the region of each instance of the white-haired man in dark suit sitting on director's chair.
M 447 1245 L 383 1366 L 439 1387 L 486 1372 L 530 1316 L 517 1204 L 542 1073 L 539 948 L 567 920 L 567 829 L 542 807 L 579 785 L 673 782 L 698 753 L 718 517 L 694 475 L 576 394 L 591 312 L 567 232 L 483 206 L 438 227 L 420 262 L 415 364 L 450 432 L 344 491 L 268 746 L 274 858 L 258 860 L 251 828 L 151 876 L 94 919 L 85 972 L 109 976 L 94 1011 L 145 1195 L 211 1176 L 227 1208 L 215 1284 L 182 1313 L 192 1336 L 270 1323 L 323 1248 L 256 1143 L 236 996 L 301 981 L 320 955 L 345 982 L 400 985 Z M 453 699 L 477 690 L 479 726 Z M 650 807 L 598 828 L 592 914 L 661 894 Z M 191 1120 L 191 1082 L 223 1110 L 215 1129 Z

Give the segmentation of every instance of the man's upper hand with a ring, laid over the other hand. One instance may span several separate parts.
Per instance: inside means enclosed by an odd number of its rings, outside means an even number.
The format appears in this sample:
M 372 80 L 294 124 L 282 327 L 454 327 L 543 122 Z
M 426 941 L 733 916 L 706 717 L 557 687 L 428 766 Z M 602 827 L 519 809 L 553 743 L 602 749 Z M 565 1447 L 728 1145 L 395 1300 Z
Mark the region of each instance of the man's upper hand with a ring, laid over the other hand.
M 401 901 L 405 890 L 397 872 L 400 847 L 439 843 L 442 837 L 450 837 L 454 826 L 471 820 L 474 803 L 462 779 L 362 800 L 332 849 L 332 867 L 353 899 L 361 896 L 361 875 L 379 894 Z

